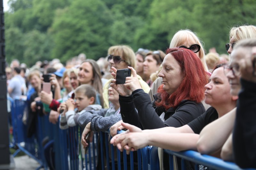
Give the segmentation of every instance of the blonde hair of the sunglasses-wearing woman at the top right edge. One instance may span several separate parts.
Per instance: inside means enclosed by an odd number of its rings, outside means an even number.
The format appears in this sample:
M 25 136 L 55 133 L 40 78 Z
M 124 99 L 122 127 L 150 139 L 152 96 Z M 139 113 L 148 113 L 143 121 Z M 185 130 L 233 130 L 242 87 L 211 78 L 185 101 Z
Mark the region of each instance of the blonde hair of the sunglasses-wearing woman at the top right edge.
M 234 26 L 231 28 L 229 32 L 229 40 L 233 38 L 234 42 L 239 40 L 255 38 L 256 37 L 256 26 Z

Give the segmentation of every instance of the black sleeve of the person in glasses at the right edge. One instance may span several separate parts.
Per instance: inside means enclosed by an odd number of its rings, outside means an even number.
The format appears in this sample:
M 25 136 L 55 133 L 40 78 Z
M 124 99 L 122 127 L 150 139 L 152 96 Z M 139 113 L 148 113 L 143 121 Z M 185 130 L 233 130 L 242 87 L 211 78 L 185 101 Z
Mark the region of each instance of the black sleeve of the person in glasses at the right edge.
M 235 162 L 241 168 L 256 168 L 256 83 L 241 79 L 233 131 Z

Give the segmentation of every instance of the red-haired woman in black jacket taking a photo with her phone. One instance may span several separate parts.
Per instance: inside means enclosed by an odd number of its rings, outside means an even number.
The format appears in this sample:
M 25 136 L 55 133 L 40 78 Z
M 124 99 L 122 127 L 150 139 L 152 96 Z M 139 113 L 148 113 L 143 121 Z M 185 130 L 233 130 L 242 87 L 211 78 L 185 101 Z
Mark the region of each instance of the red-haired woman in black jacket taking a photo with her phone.
M 116 69 L 112 67 L 111 86 L 119 93 L 123 122 L 142 129 L 180 127 L 205 112 L 201 101 L 208 79 L 200 59 L 186 48 L 169 48 L 166 54 L 158 75 L 163 78 L 163 85 L 159 86 L 153 102 L 141 89 L 132 67 L 128 68 L 133 77 L 127 77 L 124 85 L 115 84 Z

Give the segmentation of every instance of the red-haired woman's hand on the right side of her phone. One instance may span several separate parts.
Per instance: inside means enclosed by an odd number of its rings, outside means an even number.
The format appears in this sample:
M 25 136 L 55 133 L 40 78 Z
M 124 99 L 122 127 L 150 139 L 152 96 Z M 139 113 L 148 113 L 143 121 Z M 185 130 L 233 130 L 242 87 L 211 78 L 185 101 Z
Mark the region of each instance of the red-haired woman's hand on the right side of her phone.
M 132 92 L 137 90 L 137 89 L 141 89 L 140 82 L 139 82 L 139 79 L 137 78 L 136 71 L 132 67 L 128 66 L 128 68 L 132 70 L 132 77 L 127 77 L 126 78 L 124 87 L 126 89 L 131 90 Z

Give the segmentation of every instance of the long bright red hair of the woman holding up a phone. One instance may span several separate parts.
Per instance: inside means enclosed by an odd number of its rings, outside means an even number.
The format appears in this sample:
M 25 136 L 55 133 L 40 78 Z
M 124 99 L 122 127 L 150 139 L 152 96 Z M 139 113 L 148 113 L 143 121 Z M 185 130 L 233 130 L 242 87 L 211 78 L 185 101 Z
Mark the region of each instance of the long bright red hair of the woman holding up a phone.
M 204 85 L 208 83 L 208 77 L 200 58 L 186 48 L 168 48 L 166 54 L 171 54 L 180 64 L 184 77 L 179 87 L 170 95 L 160 85 L 157 92 L 160 101 L 156 106 L 163 106 L 166 110 L 176 108 L 182 100 L 201 102 L 204 99 Z

